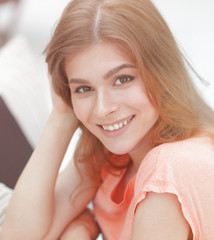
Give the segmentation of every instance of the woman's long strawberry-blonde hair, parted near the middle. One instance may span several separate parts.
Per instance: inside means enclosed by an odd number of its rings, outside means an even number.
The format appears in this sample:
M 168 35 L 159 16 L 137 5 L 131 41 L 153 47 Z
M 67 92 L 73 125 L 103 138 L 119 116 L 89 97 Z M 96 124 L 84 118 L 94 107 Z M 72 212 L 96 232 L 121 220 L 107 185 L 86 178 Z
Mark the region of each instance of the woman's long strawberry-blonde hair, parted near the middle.
M 73 0 L 68 4 L 45 51 L 53 87 L 70 106 L 65 59 L 99 42 L 117 44 L 136 63 L 148 97 L 159 112 L 151 136 L 153 146 L 198 132 L 214 135 L 213 111 L 197 93 L 188 62 L 149 0 Z M 80 128 L 74 158 L 84 162 L 91 177 L 99 179 L 103 167 L 114 171 L 127 166 L 127 162 L 117 166 L 112 161 L 114 154 L 82 124 Z

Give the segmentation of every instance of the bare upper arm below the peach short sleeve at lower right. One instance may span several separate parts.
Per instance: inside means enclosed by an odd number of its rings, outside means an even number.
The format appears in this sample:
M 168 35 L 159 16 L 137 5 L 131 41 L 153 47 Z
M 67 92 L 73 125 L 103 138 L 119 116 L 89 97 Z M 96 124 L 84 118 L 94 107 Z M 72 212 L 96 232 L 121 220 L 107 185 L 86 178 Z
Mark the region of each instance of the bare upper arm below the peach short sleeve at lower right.
M 136 210 L 133 240 L 187 240 L 191 232 L 177 197 L 173 194 L 147 194 Z

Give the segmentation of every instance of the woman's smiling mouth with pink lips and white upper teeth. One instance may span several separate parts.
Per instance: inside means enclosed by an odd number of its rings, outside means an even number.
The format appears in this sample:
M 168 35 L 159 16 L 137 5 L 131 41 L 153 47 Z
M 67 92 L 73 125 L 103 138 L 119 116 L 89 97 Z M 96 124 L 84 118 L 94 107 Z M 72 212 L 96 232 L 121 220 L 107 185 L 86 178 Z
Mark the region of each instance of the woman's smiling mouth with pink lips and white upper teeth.
M 127 127 L 130 125 L 130 122 L 134 119 L 134 115 L 130 116 L 129 118 L 126 118 L 124 120 L 121 120 L 120 122 L 112 123 L 112 124 L 106 124 L 106 125 L 99 125 L 102 132 L 105 135 L 108 136 L 115 136 L 115 134 L 120 134 L 127 129 Z

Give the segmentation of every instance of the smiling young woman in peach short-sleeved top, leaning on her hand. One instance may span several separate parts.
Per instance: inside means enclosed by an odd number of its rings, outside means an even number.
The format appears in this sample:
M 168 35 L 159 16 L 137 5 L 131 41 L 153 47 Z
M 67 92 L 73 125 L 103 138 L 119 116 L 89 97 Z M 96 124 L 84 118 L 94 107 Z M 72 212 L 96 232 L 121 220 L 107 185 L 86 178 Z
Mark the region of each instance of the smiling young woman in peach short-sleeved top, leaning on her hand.
M 214 113 L 154 5 L 73 0 L 46 54 L 54 107 L 2 239 L 213 239 Z

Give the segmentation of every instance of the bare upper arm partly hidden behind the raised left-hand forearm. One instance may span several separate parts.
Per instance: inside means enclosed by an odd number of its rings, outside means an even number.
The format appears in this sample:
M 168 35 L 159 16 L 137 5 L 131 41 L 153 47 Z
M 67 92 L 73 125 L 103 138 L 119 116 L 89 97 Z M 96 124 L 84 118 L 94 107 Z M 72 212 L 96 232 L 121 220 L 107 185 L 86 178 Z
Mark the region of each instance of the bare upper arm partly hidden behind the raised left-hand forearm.
M 78 217 L 94 198 L 97 187 L 93 187 L 88 179 L 83 179 L 79 184 L 80 181 L 74 162 L 70 161 L 57 179 L 54 218 L 50 231 L 44 240 L 57 239 L 65 227 L 72 224 L 74 218 Z M 77 185 L 78 188 L 76 188 Z M 72 194 L 73 190 L 75 190 L 75 194 Z

